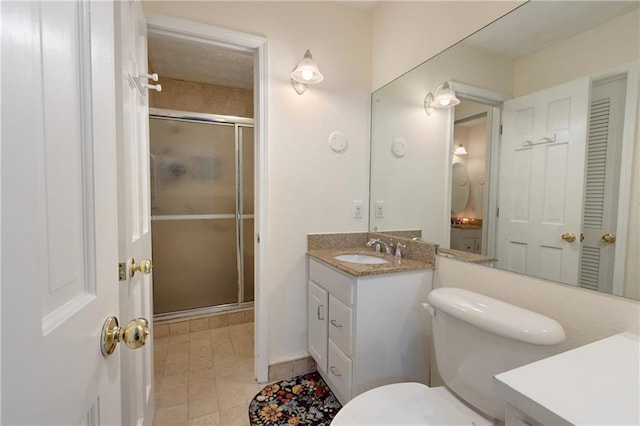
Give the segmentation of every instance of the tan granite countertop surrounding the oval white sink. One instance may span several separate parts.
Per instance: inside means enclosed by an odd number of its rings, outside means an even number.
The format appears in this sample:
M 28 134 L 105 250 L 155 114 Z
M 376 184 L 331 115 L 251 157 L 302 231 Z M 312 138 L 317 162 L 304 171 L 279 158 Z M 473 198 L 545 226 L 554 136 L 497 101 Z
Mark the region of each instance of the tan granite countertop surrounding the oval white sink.
M 379 274 L 390 274 L 395 272 L 409 272 L 409 271 L 421 271 L 425 269 L 434 269 L 435 264 L 422 262 L 414 259 L 396 259 L 395 256 L 384 254 L 384 253 L 376 253 L 373 249 L 366 249 L 361 247 L 343 247 L 343 248 L 322 248 L 322 249 L 314 249 L 307 250 L 307 254 L 319 260 L 322 263 L 325 263 L 329 266 L 332 266 L 340 271 L 347 273 L 354 277 L 363 277 L 369 275 L 379 275 Z M 351 263 L 351 262 L 342 262 L 334 259 L 334 256 L 339 256 L 341 254 L 367 254 L 370 256 L 377 256 L 389 261 L 389 263 L 382 264 L 360 264 L 360 263 Z

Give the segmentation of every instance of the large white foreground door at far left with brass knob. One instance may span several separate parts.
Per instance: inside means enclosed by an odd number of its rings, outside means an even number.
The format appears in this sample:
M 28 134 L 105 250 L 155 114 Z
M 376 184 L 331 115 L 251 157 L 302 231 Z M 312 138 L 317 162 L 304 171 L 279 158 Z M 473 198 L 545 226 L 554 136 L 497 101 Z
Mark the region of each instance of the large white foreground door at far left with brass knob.
M 120 424 L 113 36 L 110 3 L 2 4 L 2 424 Z

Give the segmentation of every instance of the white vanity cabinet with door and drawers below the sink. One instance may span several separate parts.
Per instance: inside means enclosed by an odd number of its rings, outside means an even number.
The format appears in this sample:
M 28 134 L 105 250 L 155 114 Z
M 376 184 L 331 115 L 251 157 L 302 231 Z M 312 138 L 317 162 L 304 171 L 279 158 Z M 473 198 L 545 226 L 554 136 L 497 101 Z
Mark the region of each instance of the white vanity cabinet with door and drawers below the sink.
M 329 256 L 307 257 L 308 350 L 338 400 L 390 383 L 428 383 L 430 319 L 421 303 L 432 266 L 407 260 L 338 269 Z

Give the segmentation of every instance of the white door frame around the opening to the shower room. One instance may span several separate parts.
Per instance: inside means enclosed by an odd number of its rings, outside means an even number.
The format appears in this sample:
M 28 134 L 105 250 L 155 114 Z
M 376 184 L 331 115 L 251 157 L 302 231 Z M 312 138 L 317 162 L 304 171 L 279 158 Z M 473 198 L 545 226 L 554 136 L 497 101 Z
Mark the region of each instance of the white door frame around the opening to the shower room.
M 269 377 L 269 312 L 266 277 L 267 262 L 267 39 L 163 15 L 146 14 L 149 34 L 162 34 L 181 40 L 223 46 L 254 53 L 254 131 L 255 131 L 255 364 L 259 383 Z

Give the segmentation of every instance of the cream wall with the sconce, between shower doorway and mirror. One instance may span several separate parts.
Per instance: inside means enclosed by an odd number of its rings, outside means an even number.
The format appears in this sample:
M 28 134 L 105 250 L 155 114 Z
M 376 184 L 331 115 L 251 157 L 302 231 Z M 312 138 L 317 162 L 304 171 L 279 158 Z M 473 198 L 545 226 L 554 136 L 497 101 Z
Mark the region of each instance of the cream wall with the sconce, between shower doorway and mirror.
M 268 276 L 271 362 L 306 352 L 308 233 L 366 231 L 370 21 L 332 2 L 146 2 L 146 12 L 268 39 Z M 310 49 L 325 80 L 302 95 L 289 73 Z M 330 150 L 333 131 L 346 152 Z

